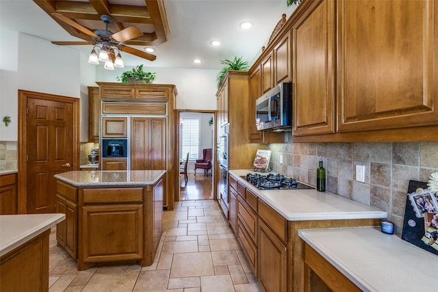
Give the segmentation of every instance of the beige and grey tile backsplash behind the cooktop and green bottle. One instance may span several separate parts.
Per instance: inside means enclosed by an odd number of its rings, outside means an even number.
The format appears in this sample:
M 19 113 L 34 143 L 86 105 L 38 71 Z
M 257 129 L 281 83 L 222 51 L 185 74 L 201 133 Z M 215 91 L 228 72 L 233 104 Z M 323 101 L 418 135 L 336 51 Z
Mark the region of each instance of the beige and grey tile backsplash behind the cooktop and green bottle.
M 289 133 L 287 135 L 290 135 Z M 288 141 L 292 137 L 287 136 Z M 274 172 L 316 185 L 320 155 L 326 190 L 389 214 L 401 233 L 409 180 L 428 181 L 438 171 L 438 142 L 270 144 Z M 279 157 L 283 155 L 283 164 Z M 356 165 L 365 165 L 365 183 L 356 181 Z

